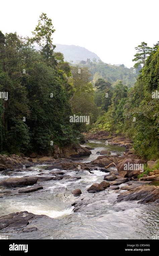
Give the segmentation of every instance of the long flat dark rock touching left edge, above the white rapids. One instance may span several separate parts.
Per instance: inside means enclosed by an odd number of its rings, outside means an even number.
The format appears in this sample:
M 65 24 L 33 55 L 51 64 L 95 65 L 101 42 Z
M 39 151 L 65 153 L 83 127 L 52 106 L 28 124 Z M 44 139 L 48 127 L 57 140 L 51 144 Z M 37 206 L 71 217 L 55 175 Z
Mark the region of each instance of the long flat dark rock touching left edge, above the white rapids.
M 38 177 L 22 177 L 22 178 L 9 178 L 0 182 L 0 186 L 6 187 L 23 187 L 37 183 Z

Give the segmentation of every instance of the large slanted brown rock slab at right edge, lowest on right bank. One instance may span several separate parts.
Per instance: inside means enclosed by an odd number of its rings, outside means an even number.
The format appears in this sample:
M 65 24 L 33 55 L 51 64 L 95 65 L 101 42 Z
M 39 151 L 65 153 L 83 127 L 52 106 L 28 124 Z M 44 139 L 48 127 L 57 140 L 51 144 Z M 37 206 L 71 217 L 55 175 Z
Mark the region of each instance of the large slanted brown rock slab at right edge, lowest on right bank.
M 126 191 L 118 195 L 117 202 L 128 201 L 128 200 L 143 200 L 145 197 L 150 195 L 150 193 L 155 189 L 157 189 L 156 186 L 147 186 L 147 185 L 140 186 L 138 188 Z

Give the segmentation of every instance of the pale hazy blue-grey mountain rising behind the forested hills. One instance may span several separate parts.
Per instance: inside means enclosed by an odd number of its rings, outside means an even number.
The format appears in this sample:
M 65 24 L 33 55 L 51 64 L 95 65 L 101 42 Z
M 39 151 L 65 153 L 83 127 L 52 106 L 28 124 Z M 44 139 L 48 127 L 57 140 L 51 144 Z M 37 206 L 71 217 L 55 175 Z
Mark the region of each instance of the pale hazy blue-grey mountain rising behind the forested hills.
M 68 62 L 73 61 L 73 63 L 82 60 L 86 61 L 87 59 L 93 61 L 94 58 L 97 59 L 97 61 L 100 60 L 97 54 L 92 53 L 84 47 L 76 45 L 65 45 L 57 43 L 54 51 L 63 53 L 64 60 Z

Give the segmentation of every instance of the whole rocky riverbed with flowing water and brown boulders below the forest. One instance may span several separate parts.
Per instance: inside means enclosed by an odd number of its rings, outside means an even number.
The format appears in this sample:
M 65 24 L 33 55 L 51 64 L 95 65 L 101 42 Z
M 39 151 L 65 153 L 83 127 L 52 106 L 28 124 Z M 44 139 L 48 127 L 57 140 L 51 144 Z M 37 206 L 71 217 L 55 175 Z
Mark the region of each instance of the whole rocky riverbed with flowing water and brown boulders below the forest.
M 81 153 L 78 158 L 59 159 L 0 156 L 0 235 L 10 239 L 155 235 L 159 186 L 153 183 L 159 181 L 159 170 L 140 180 L 140 171 L 125 171 L 124 163 L 146 161 L 131 153 L 130 142 L 124 145 L 123 138 L 118 140 L 109 146 L 103 140 L 89 140 L 83 145 L 87 147 L 83 159 Z

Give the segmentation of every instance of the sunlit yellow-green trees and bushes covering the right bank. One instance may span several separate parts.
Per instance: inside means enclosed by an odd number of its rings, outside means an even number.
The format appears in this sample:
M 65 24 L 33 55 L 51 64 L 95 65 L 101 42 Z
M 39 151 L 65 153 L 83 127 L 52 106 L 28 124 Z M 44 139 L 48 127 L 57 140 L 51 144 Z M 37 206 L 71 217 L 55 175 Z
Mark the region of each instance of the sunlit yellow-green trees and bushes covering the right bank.
M 148 159 L 159 157 L 159 104 L 152 94 L 159 91 L 159 45 L 154 46 L 134 88 L 127 90 L 121 81 L 114 85 L 111 105 L 100 115 L 93 129 L 126 135 L 133 140 L 134 153 Z M 156 94 L 155 94 L 156 95 Z M 99 97 L 97 106 L 101 107 Z

